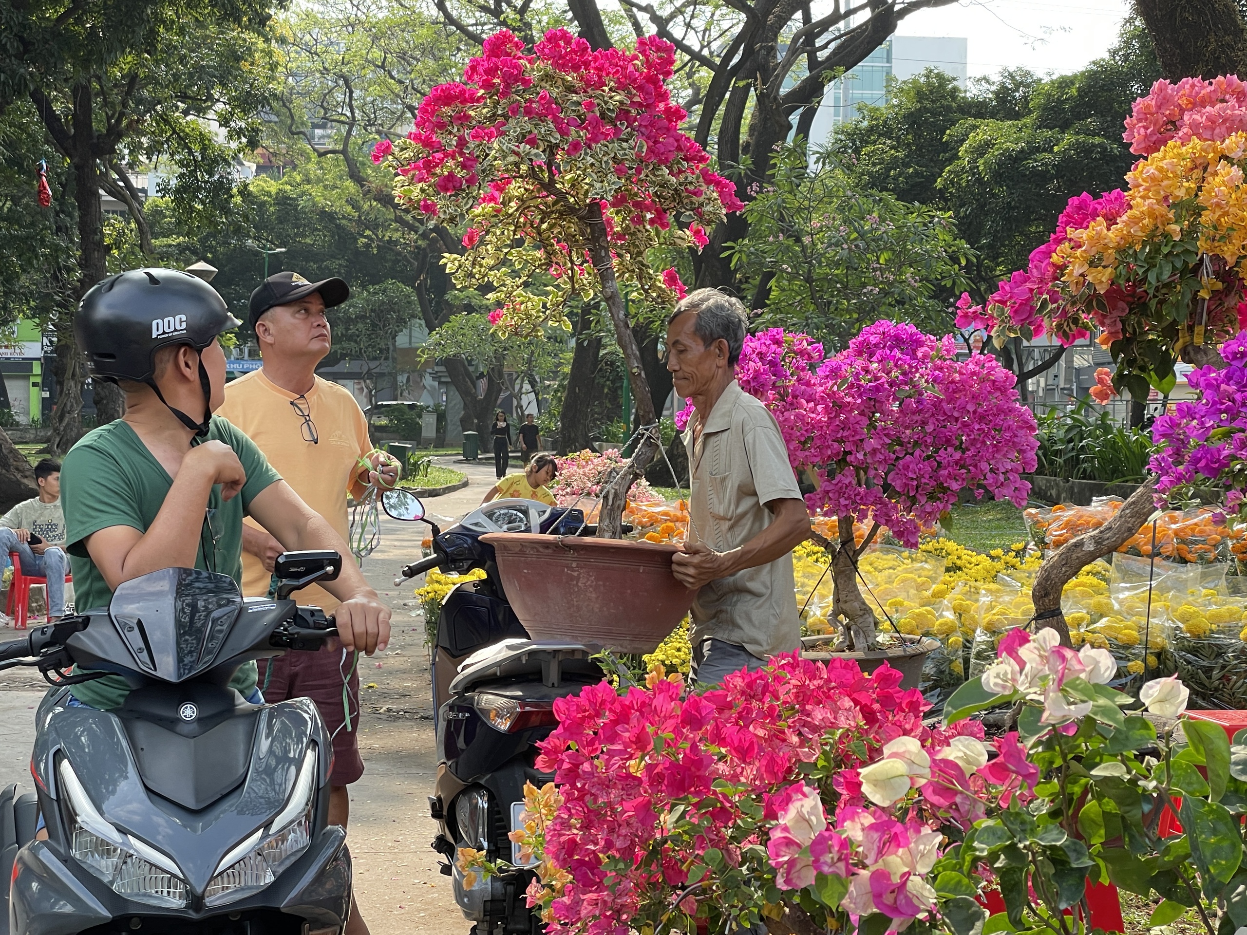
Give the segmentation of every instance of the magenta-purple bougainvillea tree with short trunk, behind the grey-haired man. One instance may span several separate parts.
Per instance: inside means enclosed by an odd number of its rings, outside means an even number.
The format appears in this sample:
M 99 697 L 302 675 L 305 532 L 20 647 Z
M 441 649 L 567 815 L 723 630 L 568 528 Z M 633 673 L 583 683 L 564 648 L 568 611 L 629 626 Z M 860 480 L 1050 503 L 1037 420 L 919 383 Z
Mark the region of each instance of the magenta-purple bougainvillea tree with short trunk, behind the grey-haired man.
M 1035 418 L 990 354 L 959 360 L 950 337 L 877 322 L 824 359 L 822 344 L 776 328 L 746 339 L 736 373 L 779 423 L 793 469 L 813 479 L 811 510 L 838 517 L 833 615 L 843 647 L 875 648 L 857 560 L 879 529 L 914 547 L 963 491 L 1026 505 Z M 872 522 L 858 545 L 854 521 Z

